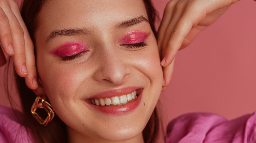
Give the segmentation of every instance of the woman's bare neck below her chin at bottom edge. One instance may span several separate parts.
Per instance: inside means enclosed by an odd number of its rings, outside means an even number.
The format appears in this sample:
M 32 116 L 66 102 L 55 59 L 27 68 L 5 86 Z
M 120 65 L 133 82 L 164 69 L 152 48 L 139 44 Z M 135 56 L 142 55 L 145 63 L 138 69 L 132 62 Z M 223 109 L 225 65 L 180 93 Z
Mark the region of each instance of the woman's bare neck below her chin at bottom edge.
M 90 143 L 144 143 L 143 135 L 142 132 L 131 139 L 128 140 L 122 140 L 122 141 L 108 141 L 100 138 L 95 138 L 92 136 L 87 136 L 84 135 L 80 132 L 75 131 L 71 127 L 67 126 L 67 132 L 68 132 L 68 143 L 85 143 L 85 142 L 90 142 Z

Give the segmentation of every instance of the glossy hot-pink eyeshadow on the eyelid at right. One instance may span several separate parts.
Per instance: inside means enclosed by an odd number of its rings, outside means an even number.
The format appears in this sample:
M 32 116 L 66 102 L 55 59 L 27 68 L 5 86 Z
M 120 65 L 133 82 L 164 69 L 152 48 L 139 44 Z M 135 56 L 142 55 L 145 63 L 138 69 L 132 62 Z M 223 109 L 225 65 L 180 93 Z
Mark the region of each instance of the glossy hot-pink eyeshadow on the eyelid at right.
M 136 44 L 145 41 L 150 32 L 141 32 L 141 31 L 131 31 L 125 34 L 123 38 L 121 38 L 121 45 L 123 44 Z

